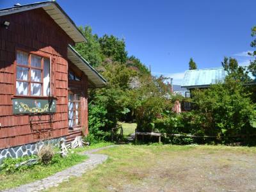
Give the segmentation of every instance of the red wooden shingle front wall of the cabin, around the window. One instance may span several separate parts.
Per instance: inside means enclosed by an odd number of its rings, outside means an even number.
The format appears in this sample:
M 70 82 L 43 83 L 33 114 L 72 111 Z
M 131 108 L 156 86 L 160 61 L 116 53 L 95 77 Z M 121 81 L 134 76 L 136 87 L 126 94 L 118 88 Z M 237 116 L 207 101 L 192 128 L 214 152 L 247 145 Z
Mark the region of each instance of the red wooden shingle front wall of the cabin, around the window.
M 67 136 L 67 45 L 74 42 L 42 8 L 0 17 L 0 23 L 5 20 L 10 26 L 0 27 L 0 149 Z M 39 125 L 31 124 L 28 115 L 12 113 L 17 49 L 51 56 L 51 92 L 57 99 L 52 129 L 49 115 L 42 115 L 44 129 L 38 131 Z

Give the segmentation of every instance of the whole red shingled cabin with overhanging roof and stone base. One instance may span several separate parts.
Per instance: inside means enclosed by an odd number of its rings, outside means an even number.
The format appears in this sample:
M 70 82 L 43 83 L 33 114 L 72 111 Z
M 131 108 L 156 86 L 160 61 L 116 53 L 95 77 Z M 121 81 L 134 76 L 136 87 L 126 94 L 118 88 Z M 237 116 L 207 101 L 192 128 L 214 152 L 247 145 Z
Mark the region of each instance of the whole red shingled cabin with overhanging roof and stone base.
M 88 134 L 88 88 L 106 84 L 72 46 L 86 42 L 55 1 L 0 10 L 0 163 Z

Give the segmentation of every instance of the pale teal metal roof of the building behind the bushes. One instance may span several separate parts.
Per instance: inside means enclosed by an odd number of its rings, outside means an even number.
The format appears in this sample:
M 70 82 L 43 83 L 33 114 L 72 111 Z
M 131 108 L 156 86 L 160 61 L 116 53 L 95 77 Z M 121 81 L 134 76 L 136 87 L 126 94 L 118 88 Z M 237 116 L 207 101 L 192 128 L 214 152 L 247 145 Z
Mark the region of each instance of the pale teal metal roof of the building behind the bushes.
M 227 72 L 223 67 L 186 70 L 181 86 L 185 88 L 204 88 L 210 84 L 223 83 L 226 76 Z

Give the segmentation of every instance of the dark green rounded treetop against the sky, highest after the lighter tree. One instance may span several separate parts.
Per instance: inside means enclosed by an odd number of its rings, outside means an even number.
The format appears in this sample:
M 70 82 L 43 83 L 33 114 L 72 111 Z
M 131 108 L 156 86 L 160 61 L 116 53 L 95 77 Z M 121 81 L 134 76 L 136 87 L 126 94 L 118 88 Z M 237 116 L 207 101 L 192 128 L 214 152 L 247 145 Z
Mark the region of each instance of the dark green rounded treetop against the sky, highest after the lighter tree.
M 104 35 L 99 38 L 102 54 L 113 61 L 125 63 L 127 60 L 127 51 L 125 51 L 124 39 L 120 40 L 113 35 Z

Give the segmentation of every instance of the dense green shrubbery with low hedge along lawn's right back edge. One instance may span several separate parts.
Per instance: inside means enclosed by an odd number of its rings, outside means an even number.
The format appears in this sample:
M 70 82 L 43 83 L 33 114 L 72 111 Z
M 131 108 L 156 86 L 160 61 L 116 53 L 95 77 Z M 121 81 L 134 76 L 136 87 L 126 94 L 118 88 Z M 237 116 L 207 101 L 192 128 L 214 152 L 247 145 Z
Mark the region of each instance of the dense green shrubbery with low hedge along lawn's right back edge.
M 193 90 L 193 110 L 161 115 L 153 121 L 159 132 L 184 134 L 168 137 L 172 143 L 251 143 L 256 134 L 256 105 L 246 86 L 233 78 L 223 84 L 212 84 L 205 90 Z M 186 134 L 212 136 L 189 138 Z

